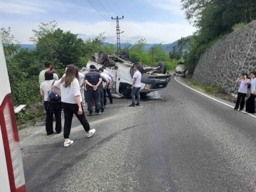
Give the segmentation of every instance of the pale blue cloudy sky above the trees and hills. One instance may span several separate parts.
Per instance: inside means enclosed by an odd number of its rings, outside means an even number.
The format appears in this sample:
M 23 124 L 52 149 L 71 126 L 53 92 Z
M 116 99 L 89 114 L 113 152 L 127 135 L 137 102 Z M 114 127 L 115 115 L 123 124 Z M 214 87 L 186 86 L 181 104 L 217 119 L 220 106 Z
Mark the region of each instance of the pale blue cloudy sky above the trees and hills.
M 105 33 L 106 41 L 116 43 L 119 20 L 121 43 L 173 43 L 191 36 L 196 28 L 186 21 L 181 0 L 0 0 L 0 28 L 11 27 L 21 43 L 31 44 L 33 29 L 56 21 L 58 28 L 93 38 Z

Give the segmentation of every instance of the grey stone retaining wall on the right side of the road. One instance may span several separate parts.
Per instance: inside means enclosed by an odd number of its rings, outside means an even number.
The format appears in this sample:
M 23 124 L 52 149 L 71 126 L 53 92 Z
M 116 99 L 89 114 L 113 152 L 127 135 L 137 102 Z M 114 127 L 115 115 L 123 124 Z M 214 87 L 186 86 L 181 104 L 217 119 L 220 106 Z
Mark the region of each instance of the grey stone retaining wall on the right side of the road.
M 237 92 L 235 82 L 241 73 L 256 70 L 256 21 L 207 48 L 193 73 L 193 80 L 220 85 Z

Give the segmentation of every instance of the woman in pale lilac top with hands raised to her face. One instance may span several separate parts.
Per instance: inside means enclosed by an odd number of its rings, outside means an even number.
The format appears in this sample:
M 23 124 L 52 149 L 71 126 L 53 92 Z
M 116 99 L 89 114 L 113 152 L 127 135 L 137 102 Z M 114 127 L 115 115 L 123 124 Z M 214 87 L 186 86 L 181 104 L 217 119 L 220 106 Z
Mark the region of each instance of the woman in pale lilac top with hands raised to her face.
M 236 82 L 240 83 L 240 87 L 238 90 L 238 99 L 235 103 L 234 110 L 238 110 L 239 108 L 239 110 L 242 111 L 245 107 L 245 97 L 247 95 L 247 88 L 250 84 L 250 79 L 248 78 L 247 73 L 242 73 L 242 75 L 240 76 L 240 78 L 238 78 L 238 80 L 236 80 Z

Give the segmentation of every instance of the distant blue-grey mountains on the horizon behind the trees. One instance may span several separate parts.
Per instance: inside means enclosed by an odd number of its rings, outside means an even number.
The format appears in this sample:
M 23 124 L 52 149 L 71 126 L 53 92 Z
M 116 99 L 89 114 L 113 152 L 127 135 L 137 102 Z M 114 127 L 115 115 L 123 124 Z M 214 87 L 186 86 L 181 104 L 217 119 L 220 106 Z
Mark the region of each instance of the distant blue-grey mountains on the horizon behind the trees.
M 190 38 L 190 37 L 191 36 L 188 36 L 186 38 Z M 174 48 L 174 46 L 177 46 L 177 44 L 178 44 L 178 40 L 174 41 L 173 43 L 162 44 L 162 46 L 163 46 L 164 50 L 166 51 L 166 53 L 169 53 Z M 107 45 L 110 45 L 110 43 L 103 42 L 103 46 L 107 46 Z M 149 44 L 146 44 L 144 49 L 149 50 L 151 47 L 157 46 L 157 45 L 159 45 L 159 44 L 158 43 L 149 43 Z M 124 48 L 125 46 L 133 46 L 133 44 L 131 44 L 131 43 L 121 43 L 121 48 Z M 21 44 L 21 48 L 28 48 L 29 50 L 35 50 L 36 46 L 29 45 L 29 44 Z

